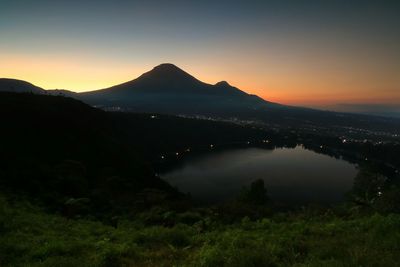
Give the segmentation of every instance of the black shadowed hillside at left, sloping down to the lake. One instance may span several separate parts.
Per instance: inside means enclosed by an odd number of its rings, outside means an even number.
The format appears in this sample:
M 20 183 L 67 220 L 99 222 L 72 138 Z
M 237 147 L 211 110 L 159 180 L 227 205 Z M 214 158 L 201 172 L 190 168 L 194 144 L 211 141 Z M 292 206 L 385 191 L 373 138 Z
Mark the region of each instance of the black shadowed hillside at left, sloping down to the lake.
M 0 185 L 6 189 L 56 209 L 84 198 L 93 210 L 132 205 L 145 188 L 174 192 L 118 140 L 104 111 L 71 98 L 1 93 L 0 117 Z

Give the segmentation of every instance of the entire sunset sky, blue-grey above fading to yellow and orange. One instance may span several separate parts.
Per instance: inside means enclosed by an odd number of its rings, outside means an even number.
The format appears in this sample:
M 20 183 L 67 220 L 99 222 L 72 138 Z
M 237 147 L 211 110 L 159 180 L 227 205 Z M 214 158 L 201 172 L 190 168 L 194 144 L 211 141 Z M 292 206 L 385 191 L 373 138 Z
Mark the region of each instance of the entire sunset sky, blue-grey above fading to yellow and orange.
M 400 105 L 400 1 L 0 0 L 0 77 L 87 91 L 174 63 L 295 105 Z

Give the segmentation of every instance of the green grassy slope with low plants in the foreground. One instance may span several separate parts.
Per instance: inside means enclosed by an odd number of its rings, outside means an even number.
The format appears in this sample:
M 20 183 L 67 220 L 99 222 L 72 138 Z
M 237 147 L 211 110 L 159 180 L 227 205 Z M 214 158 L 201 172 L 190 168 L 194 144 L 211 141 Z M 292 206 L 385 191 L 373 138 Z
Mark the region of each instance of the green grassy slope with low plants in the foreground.
M 0 197 L 0 266 L 400 266 L 400 215 L 170 227 L 140 218 L 114 228 Z

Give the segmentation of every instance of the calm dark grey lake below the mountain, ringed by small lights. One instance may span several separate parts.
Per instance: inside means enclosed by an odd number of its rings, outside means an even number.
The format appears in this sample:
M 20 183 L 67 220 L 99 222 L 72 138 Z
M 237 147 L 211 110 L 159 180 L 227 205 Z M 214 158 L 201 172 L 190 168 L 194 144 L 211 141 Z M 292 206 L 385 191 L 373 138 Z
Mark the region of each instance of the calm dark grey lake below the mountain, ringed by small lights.
M 356 166 L 300 146 L 215 151 L 190 159 L 161 177 L 194 200 L 234 199 L 243 186 L 263 179 L 270 198 L 286 204 L 336 203 L 344 199 Z

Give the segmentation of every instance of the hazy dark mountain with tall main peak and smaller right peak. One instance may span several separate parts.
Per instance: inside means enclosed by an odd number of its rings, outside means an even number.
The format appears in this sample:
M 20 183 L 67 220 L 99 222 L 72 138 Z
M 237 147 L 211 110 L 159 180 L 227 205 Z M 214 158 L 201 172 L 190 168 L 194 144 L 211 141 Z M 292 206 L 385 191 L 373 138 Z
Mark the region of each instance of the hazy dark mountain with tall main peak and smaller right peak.
M 82 93 L 79 98 L 105 108 L 208 116 L 235 116 L 238 110 L 277 105 L 227 82 L 201 82 L 173 64 L 161 64 L 135 80 Z

